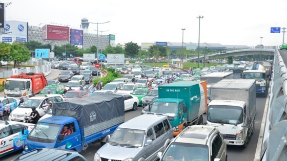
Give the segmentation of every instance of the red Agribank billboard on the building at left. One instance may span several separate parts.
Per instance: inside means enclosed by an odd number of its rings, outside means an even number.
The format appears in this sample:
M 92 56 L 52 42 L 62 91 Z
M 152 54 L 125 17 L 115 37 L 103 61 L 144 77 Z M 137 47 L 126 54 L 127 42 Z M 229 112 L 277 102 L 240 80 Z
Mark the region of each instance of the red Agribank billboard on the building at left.
M 69 40 L 70 28 L 66 26 L 45 25 L 42 28 L 44 40 Z

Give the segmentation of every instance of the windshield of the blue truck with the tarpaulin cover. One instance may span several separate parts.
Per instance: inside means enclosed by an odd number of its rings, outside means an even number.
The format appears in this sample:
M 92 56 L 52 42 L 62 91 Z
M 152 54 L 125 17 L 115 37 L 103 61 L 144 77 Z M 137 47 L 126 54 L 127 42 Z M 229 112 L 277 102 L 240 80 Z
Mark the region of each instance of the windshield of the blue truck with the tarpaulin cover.
M 60 132 L 60 127 L 61 125 L 58 125 L 58 124 L 39 122 L 35 125 L 35 127 L 29 133 L 28 138 L 54 141 Z

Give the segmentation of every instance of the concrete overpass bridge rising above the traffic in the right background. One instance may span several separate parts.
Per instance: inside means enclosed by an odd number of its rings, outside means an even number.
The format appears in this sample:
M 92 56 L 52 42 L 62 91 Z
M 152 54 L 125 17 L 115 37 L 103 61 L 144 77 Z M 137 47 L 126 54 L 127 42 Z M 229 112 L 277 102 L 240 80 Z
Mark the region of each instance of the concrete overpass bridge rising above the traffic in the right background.
M 248 47 L 248 48 L 241 48 L 241 49 L 230 49 L 215 52 L 212 54 L 206 54 L 206 59 L 220 59 L 226 57 L 238 57 L 238 56 L 247 56 L 247 55 L 271 55 L 274 56 L 276 46 L 266 46 L 266 47 Z M 203 55 L 199 56 L 199 60 L 203 60 Z M 192 57 L 188 60 L 197 60 L 198 57 Z

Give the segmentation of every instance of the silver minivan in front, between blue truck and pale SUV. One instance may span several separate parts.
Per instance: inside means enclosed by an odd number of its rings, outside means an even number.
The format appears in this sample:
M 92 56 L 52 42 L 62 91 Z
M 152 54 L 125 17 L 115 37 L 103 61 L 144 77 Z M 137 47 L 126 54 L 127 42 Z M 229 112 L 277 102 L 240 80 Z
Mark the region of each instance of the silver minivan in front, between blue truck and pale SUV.
M 156 154 L 163 152 L 172 139 L 166 116 L 142 114 L 121 124 L 95 153 L 94 160 L 156 160 Z

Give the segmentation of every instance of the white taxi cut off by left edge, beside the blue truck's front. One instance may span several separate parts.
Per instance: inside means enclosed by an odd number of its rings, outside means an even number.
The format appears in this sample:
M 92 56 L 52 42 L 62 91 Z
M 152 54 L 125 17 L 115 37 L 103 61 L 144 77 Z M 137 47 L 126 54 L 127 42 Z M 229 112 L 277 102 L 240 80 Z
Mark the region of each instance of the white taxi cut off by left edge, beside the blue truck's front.
M 22 150 L 29 132 L 35 124 L 0 121 L 0 157 Z

